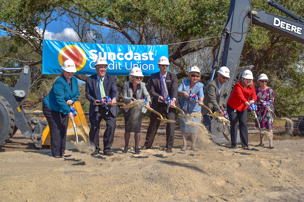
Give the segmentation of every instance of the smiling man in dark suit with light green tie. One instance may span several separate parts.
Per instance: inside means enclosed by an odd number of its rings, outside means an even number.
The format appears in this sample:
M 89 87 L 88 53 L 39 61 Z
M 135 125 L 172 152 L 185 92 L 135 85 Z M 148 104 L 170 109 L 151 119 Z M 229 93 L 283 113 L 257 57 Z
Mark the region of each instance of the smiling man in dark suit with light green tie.
M 90 142 L 95 145 L 95 151 L 92 156 L 99 153 L 99 128 L 102 119 L 106 122 L 106 130 L 103 134 L 103 154 L 112 156 L 110 147 L 113 143 L 116 128 L 116 117 L 119 112 L 115 104 L 118 99 L 118 89 L 116 78 L 106 75 L 108 64 L 106 60 L 97 59 L 95 68 L 97 74 L 87 77 L 86 80 L 86 97 L 90 101 L 89 120 L 91 123 Z M 111 97 L 110 105 L 102 105 L 101 99 L 105 96 Z

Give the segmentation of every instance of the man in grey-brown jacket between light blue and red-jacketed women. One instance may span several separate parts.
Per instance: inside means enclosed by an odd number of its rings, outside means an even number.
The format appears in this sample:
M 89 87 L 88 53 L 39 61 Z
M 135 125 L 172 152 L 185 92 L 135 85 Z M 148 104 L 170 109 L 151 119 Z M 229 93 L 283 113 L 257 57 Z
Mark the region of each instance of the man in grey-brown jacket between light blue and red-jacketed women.
M 230 78 L 230 70 L 223 66 L 217 71 L 218 76 L 210 81 L 204 90 L 204 104 L 213 112 L 223 113 L 223 85 Z M 207 109 L 202 108 L 202 115 L 204 117 L 204 125 L 207 130 L 211 132 L 211 117 L 207 115 Z

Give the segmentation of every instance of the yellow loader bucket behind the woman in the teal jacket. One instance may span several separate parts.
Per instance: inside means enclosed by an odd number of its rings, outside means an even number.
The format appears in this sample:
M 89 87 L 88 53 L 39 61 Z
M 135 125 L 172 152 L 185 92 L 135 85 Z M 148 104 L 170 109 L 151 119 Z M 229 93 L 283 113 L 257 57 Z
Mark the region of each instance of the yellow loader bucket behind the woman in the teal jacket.
M 87 144 L 87 137 L 89 137 L 90 128 L 88 127 L 88 123 L 84 114 L 84 111 L 81 107 L 80 102 L 75 102 L 73 106 L 77 110 L 77 116 L 74 117 L 74 121 L 77 128 L 77 133 L 79 137 L 79 141 L 85 141 Z M 72 125 L 71 120 L 68 120 L 68 126 L 66 131 L 66 141 L 75 140 L 75 132 Z M 51 146 L 51 137 L 50 137 L 50 128 L 47 126 L 42 133 L 42 145 L 50 145 Z

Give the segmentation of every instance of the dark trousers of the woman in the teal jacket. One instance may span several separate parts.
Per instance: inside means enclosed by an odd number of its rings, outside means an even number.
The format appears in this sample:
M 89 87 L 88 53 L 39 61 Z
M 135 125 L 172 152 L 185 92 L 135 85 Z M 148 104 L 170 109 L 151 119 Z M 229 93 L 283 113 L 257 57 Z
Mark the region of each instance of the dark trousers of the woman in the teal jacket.
M 42 110 L 50 127 L 52 155 L 62 157 L 65 150 L 68 116 L 51 110 L 45 103 L 42 105 Z

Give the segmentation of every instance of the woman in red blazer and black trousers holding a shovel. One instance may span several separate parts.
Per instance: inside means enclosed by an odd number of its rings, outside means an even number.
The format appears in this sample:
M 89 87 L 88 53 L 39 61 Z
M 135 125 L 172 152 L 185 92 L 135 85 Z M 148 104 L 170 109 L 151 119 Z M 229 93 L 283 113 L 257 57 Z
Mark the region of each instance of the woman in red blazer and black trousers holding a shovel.
M 242 74 L 242 81 L 236 83 L 227 102 L 227 113 L 231 122 L 231 147 L 237 148 L 238 121 L 240 125 L 241 143 L 248 148 L 247 108 L 256 100 L 253 75 L 250 70 Z M 249 98 L 251 99 L 249 100 Z

